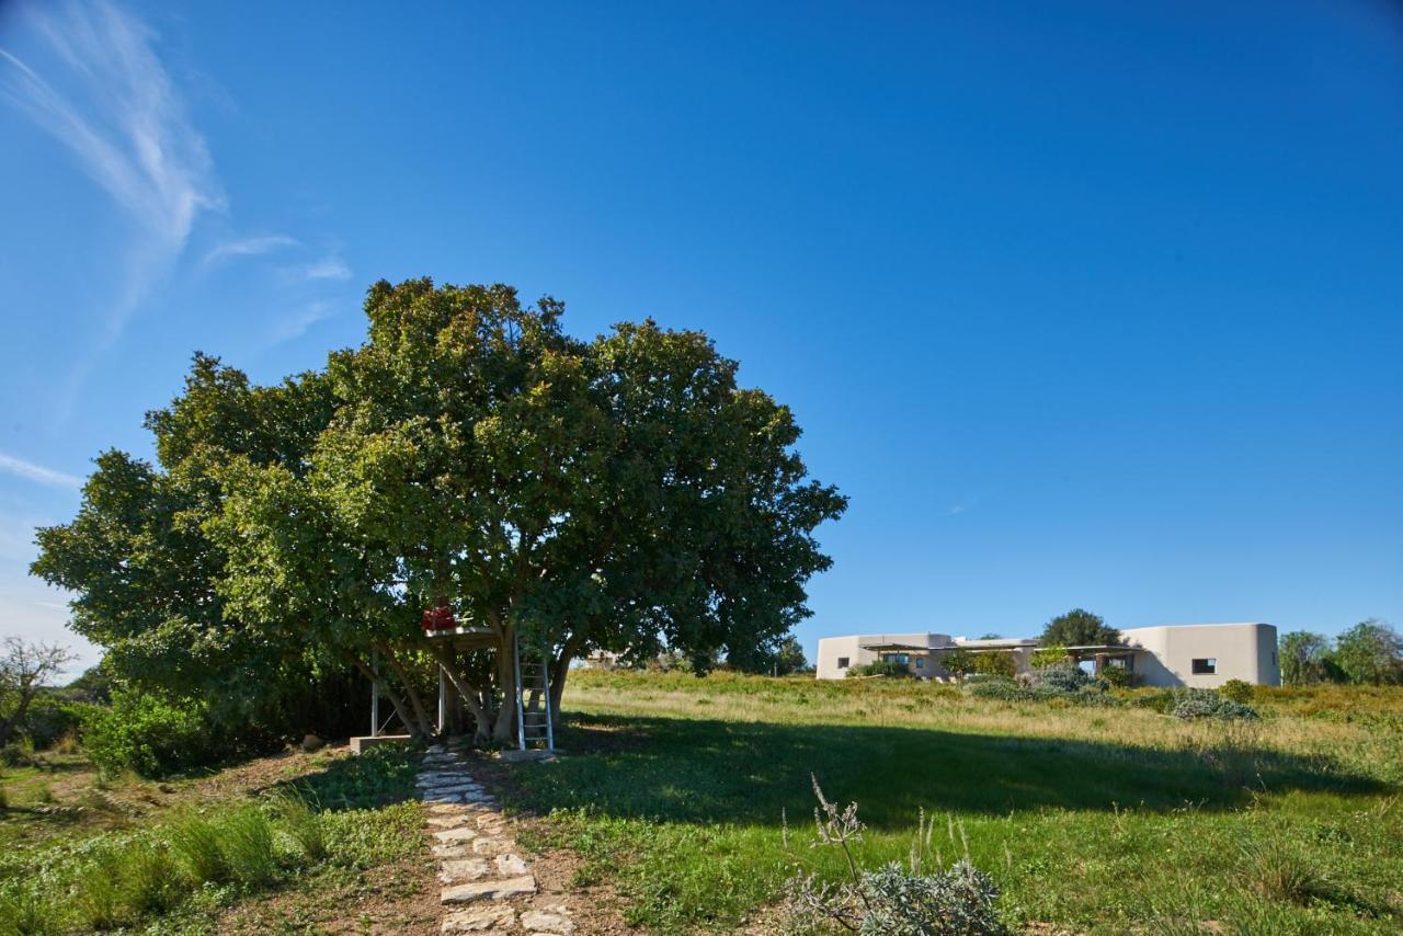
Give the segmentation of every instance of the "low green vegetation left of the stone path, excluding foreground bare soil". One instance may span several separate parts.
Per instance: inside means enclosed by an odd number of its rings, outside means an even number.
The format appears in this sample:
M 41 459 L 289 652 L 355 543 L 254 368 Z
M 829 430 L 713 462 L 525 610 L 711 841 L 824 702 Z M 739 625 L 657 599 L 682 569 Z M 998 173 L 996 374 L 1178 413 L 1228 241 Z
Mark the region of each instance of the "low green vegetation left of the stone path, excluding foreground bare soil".
M 43 808 L 32 798 L 11 803 L 7 832 L 39 835 L 0 857 L 0 933 L 220 932 L 223 915 L 241 901 L 424 849 L 410 751 L 377 748 L 316 763 L 253 796 L 181 797 L 171 787 L 168 807 L 140 815 L 139 782 L 109 786 L 111 793 L 94 786 Z M 21 779 L 6 773 L 6 787 Z

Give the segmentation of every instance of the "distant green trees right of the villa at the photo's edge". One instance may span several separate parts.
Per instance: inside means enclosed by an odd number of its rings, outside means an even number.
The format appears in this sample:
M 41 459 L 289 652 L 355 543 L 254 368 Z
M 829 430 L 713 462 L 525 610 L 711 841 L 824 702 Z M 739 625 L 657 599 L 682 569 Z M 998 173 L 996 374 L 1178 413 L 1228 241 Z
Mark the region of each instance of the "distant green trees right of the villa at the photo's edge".
M 1333 641 L 1309 630 L 1282 634 L 1278 657 L 1281 681 L 1292 686 L 1319 682 L 1403 685 L 1403 637 L 1374 617 Z

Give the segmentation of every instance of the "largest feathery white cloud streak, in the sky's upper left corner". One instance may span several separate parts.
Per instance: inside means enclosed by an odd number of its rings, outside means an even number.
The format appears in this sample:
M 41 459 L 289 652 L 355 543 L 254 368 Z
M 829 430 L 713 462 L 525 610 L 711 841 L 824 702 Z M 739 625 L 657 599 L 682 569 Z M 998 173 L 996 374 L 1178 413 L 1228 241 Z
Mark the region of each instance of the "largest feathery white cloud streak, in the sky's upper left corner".
M 145 233 L 129 244 L 104 328 L 62 394 L 70 411 L 87 372 L 185 250 L 195 219 L 222 209 L 224 195 L 146 24 L 107 0 L 21 11 L 52 53 L 48 73 L 0 48 L 0 98 L 70 150 Z

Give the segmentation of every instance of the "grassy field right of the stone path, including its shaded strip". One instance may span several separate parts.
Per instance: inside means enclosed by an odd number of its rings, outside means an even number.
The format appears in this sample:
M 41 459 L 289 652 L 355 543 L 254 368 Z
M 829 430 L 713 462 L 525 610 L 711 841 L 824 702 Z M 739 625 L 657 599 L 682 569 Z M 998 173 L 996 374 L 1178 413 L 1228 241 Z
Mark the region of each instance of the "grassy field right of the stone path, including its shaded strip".
M 1253 724 L 1006 703 L 905 681 L 577 672 L 568 755 L 516 776 L 630 923 L 766 928 L 811 848 L 810 775 L 867 864 L 968 853 L 1034 932 L 1385 933 L 1403 925 L 1403 692 L 1258 690 Z

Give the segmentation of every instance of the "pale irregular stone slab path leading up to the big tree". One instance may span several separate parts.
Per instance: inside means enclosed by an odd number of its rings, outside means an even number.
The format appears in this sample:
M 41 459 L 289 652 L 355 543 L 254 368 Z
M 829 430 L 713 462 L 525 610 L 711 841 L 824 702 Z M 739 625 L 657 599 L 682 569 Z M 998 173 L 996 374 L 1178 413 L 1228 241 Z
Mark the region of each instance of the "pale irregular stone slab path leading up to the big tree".
M 570 936 L 564 904 L 544 904 L 536 876 L 516 855 L 511 824 L 497 798 L 477 783 L 460 754 L 435 745 L 424 755 L 417 786 L 428 803 L 428 828 L 443 890 L 445 933 Z

